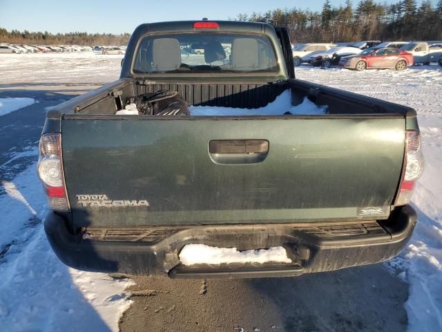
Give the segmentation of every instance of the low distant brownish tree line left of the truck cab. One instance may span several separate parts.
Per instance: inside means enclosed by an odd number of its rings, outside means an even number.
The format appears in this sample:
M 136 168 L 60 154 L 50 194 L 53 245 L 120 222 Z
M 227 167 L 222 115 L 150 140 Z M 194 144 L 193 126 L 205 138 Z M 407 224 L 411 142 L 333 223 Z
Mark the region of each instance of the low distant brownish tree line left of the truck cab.
M 130 33 L 113 35 L 111 33 L 31 33 L 28 30 L 8 31 L 0 28 L 0 42 L 9 44 L 43 44 L 43 45 L 126 45 Z

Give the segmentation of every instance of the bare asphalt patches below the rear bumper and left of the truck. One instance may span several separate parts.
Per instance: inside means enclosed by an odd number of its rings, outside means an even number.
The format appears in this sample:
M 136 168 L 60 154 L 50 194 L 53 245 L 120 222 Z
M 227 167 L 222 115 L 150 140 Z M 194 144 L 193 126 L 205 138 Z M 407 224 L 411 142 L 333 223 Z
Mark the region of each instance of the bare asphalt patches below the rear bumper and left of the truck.
M 35 161 L 24 157 L 2 166 L 13 154 L 37 147 L 45 108 L 80 92 L 75 86 L 0 87 L 0 98 L 38 101 L 0 117 L 0 179 L 14 178 Z M 407 284 L 381 264 L 294 278 L 134 280 L 133 305 L 119 323 L 123 332 L 405 331 L 407 326 Z

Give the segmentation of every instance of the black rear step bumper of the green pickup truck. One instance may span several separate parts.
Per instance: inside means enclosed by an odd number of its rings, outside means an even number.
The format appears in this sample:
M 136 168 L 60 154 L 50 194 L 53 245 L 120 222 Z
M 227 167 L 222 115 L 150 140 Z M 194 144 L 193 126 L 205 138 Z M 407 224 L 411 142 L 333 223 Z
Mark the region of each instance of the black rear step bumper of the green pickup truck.
M 106 238 L 106 232 L 122 234 L 124 228 L 117 233 L 115 228 L 99 229 L 98 233 L 90 229 L 92 239 L 89 233 L 71 234 L 66 221 L 50 212 L 45 231 L 59 259 L 79 270 L 200 279 L 288 277 L 386 261 L 403 249 L 415 224 L 416 212 L 406 205 L 396 208 L 386 221 L 146 228 L 148 235 L 138 237 L 141 241 Z M 293 264 L 182 266 L 178 253 L 188 243 L 238 250 L 284 246 Z

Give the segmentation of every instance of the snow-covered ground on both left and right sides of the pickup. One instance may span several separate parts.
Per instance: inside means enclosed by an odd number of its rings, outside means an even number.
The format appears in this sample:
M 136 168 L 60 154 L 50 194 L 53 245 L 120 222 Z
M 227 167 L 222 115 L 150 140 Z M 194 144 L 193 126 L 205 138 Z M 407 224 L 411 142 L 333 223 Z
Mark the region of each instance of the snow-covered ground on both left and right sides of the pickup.
M 0 89 L 104 84 L 117 79 L 121 59 L 121 55 L 92 52 L 0 55 Z M 410 244 L 386 268 L 410 283 L 406 304 L 410 331 L 441 331 L 441 67 L 360 73 L 301 66 L 296 73 L 302 80 L 406 104 L 418 112 L 425 154 L 425 172 L 413 199 L 419 224 Z M 8 95 L 3 93 L 2 97 Z M 36 147 L 37 143 L 10 158 L 35 156 L 37 160 Z M 12 163 L 9 160 L 0 168 Z M 116 331 L 119 316 L 130 305 L 124 290 L 131 281 L 79 272 L 61 264 L 44 235 L 46 212 L 35 163 L 12 180 L 1 181 L 0 330 Z

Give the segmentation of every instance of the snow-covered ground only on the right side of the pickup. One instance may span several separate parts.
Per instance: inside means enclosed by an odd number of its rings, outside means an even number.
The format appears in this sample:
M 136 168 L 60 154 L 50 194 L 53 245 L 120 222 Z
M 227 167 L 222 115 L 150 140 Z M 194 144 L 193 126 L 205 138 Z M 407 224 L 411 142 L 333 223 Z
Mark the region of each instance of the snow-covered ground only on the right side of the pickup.
M 442 331 L 442 67 L 356 72 L 302 66 L 296 74 L 301 80 L 416 109 L 425 157 L 412 199 L 419 223 L 407 248 L 387 266 L 410 283 L 405 304 L 409 330 Z

